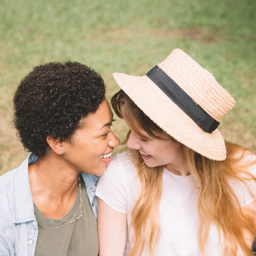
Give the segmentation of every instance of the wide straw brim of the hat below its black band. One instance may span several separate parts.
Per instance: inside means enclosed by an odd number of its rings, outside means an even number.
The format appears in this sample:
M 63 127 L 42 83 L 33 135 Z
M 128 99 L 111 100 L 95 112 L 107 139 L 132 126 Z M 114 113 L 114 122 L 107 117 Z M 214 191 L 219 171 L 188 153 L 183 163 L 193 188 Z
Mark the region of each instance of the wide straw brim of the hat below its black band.
M 203 131 L 146 75 L 114 73 L 113 77 L 133 102 L 174 139 L 209 159 L 226 159 L 225 142 L 219 130 Z

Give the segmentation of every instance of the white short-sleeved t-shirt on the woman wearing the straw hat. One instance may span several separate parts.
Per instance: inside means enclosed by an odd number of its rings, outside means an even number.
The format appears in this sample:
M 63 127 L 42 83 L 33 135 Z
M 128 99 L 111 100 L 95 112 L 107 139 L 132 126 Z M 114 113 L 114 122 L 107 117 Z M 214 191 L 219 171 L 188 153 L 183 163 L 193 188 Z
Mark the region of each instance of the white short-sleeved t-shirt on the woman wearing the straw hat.
M 251 173 L 256 176 L 256 166 Z M 194 184 L 192 175 L 187 181 Z M 235 186 L 234 190 L 245 206 L 254 198 L 244 186 Z M 254 189 L 255 191 L 255 189 Z M 124 152 L 113 157 L 107 170 L 101 176 L 96 196 L 100 197 L 114 210 L 127 213 L 128 227 L 131 223 L 131 213 L 140 195 L 141 185 L 136 167 Z M 198 244 L 198 219 L 196 189 L 189 185 L 182 176 L 175 175 L 166 169 L 163 172 L 163 192 L 160 200 L 161 235 L 156 256 L 200 256 Z M 129 240 L 131 240 L 129 234 Z M 223 247 L 222 247 L 223 246 Z M 225 245 L 221 246 L 217 229 L 212 226 L 209 240 L 205 246 L 206 255 L 223 256 Z M 142 254 L 149 256 L 146 249 Z

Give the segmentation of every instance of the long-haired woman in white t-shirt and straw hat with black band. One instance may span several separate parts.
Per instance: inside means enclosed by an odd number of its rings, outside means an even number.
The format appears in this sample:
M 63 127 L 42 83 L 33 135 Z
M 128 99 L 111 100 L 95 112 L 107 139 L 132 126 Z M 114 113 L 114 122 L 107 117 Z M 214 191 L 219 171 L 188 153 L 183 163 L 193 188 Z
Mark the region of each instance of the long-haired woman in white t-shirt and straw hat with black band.
M 256 156 L 217 129 L 233 97 L 180 49 L 113 76 L 130 131 L 96 189 L 100 256 L 252 255 Z

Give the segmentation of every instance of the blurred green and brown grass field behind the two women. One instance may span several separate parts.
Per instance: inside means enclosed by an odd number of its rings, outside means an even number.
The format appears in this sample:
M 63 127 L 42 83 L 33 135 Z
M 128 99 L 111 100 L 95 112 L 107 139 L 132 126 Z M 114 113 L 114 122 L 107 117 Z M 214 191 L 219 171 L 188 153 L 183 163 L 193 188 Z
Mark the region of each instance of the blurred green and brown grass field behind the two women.
M 11 129 L 19 81 L 65 58 L 101 73 L 110 99 L 113 72 L 143 75 L 181 48 L 236 99 L 224 138 L 256 151 L 255 24 L 255 0 L 0 0 L 0 175 L 27 155 Z M 113 129 L 125 137 L 122 121 Z

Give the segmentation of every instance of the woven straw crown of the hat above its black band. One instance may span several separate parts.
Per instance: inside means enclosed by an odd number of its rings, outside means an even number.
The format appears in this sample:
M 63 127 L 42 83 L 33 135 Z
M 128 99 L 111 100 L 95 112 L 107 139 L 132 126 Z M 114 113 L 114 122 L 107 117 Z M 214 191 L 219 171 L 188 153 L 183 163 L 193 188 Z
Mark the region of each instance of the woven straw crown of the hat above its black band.
M 158 66 L 216 121 L 235 106 L 235 99 L 214 76 L 180 49 Z

